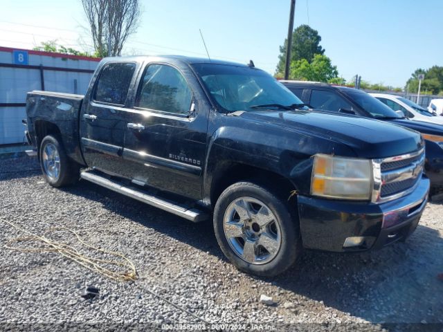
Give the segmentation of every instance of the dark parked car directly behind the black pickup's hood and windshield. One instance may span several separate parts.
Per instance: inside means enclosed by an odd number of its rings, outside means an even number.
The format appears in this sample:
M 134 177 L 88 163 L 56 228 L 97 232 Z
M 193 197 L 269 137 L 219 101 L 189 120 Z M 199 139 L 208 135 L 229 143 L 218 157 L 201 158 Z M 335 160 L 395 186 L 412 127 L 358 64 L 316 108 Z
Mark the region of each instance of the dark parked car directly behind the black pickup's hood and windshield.
M 309 104 L 316 111 L 354 114 L 419 131 L 426 140 L 425 169 L 431 179 L 431 190 L 437 192 L 443 189 L 443 126 L 441 124 L 408 120 L 369 93 L 346 86 L 305 81 L 281 82 L 302 102 Z

